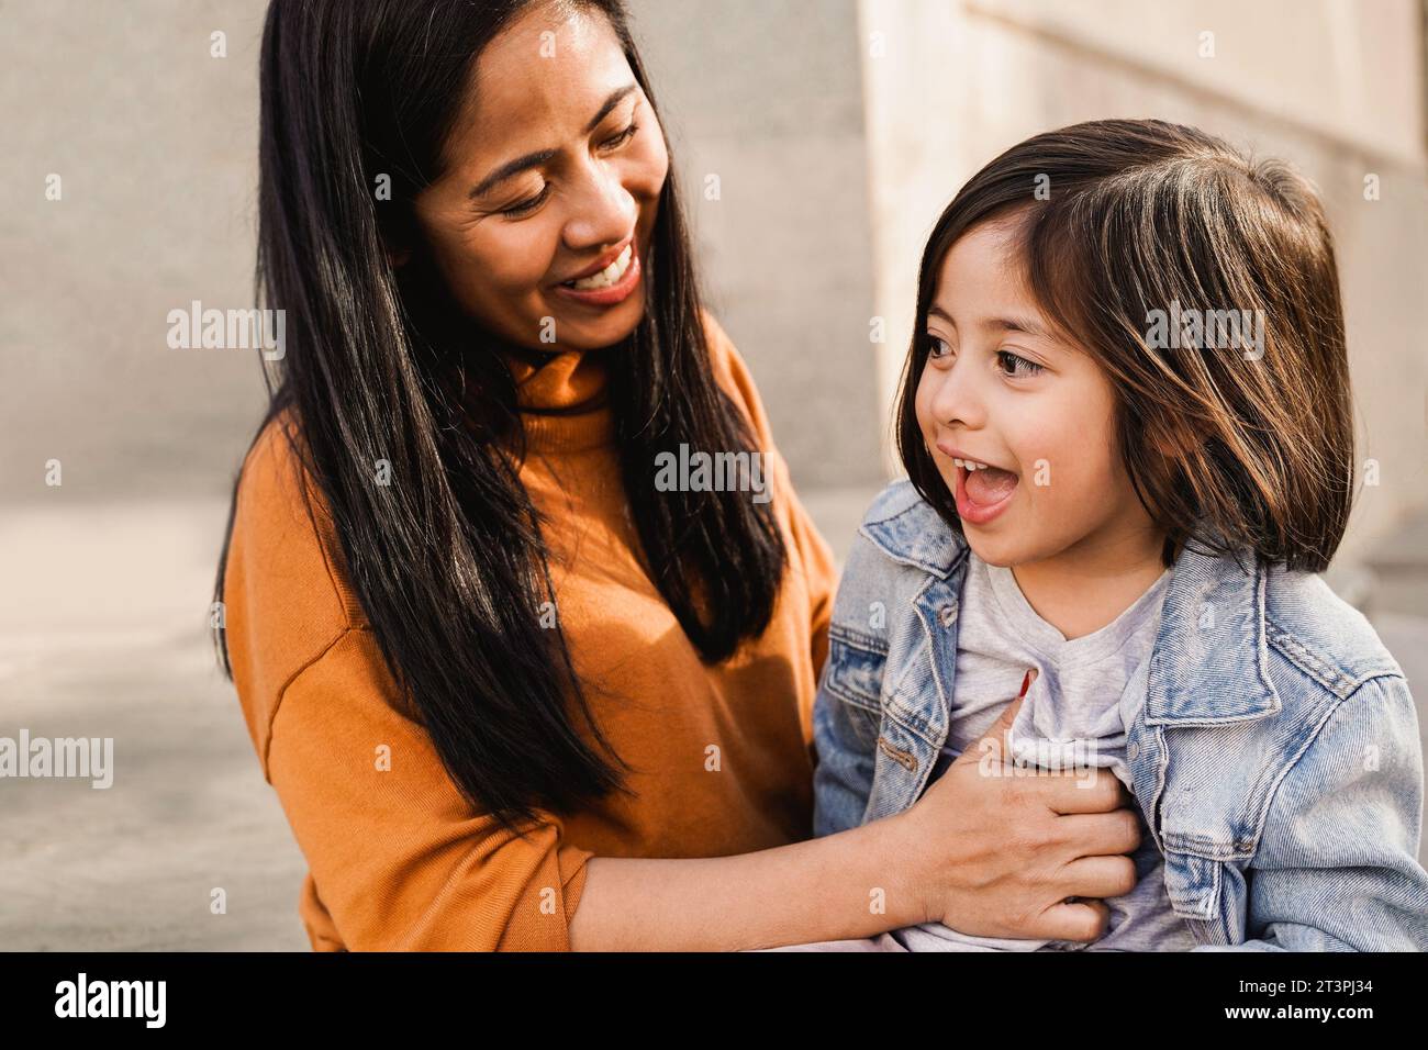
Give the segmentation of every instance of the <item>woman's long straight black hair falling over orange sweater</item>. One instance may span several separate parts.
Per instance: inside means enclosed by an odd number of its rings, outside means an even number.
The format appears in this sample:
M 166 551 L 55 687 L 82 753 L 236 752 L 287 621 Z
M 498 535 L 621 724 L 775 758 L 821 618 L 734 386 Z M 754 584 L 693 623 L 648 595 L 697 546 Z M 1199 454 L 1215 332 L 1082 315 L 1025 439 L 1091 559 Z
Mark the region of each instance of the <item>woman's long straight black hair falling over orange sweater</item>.
M 570 811 L 628 790 L 577 733 L 573 710 L 624 763 L 594 724 L 564 636 L 540 623 L 555 596 L 541 517 L 516 466 L 524 443 L 500 343 L 473 330 L 420 250 L 397 270 L 387 249 L 420 249 L 411 200 L 441 174 L 471 64 L 528 1 L 273 0 L 256 269 L 258 300 L 286 311 L 286 353 L 264 370 L 263 427 L 296 423 L 297 461 L 403 701 L 463 794 L 511 830 L 536 807 Z M 608 19 L 654 106 L 620 0 L 578 3 Z M 374 193 L 380 174 L 390 200 Z M 621 474 L 637 554 L 717 663 L 768 626 L 787 551 L 771 503 L 654 486 L 657 454 L 681 443 L 757 450 L 710 369 L 673 166 L 647 287 L 644 317 L 610 370 Z M 388 486 L 374 484 L 378 460 L 390 463 Z M 230 511 L 220 601 L 231 531 Z M 217 644 L 231 677 L 221 629 Z

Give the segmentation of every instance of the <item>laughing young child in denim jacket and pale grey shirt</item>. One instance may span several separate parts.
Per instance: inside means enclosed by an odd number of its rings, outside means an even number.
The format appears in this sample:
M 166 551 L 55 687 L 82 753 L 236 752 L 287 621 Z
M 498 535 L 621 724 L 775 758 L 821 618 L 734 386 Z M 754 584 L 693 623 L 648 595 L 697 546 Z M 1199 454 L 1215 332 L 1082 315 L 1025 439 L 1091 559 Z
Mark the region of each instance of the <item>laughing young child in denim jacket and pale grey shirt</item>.
M 960 773 L 1131 790 L 1141 849 L 1087 861 L 1094 947 L 1428 947 L 1412 697 L 1317 576 L 1354 439 L 1301 177 L 1161 121 L 1008 150 L 922 256 L 898 450 L 830 629 L 818 834 L 908 809 L 1025 683 Z M 837 946 L 1084 947 L 998 933 Z

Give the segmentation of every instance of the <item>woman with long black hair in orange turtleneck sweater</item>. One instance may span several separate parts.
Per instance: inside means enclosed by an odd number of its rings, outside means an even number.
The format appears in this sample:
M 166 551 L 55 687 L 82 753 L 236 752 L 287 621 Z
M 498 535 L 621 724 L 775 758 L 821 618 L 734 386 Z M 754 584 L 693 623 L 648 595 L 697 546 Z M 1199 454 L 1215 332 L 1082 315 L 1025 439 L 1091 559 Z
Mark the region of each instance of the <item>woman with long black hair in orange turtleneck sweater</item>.
M 617 0 L 276 0 L 261 97 L 287 343 L 217 597 L 313 947 L 1094 937 L 1067 899 L 1138 839 L 1110 777 L 960 766 L 807 840 L 831 559 Z M 667 491 L 681 446 L 767 457 L 773 500 Z

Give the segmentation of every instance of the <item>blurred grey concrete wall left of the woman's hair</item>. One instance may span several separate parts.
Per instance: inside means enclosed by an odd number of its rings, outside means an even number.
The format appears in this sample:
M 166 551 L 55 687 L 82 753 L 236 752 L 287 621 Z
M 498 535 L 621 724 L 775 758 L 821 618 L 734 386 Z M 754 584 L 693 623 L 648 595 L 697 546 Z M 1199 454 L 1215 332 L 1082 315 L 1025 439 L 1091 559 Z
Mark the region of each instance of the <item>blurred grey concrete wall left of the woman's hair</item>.
M 167 313 L 251 306 L 258 0 L 0 9 L 0 493 L 208 496 L 263 404 L 253 354 Z M 210 57 L 210 33 L 227 57 Z M 47 200 L 59 174 L 61 200 Z M 44 484 L 59 459 L 63 487 Z

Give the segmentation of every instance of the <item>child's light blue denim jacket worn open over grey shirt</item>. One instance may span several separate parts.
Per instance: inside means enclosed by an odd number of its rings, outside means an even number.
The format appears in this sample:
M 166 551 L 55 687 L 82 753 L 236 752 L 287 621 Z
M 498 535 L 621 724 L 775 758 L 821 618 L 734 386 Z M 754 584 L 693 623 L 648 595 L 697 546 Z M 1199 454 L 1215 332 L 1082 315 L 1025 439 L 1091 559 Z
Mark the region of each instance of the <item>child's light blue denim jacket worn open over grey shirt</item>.
M 815 834 L 925 790 L 955 694 L 967 553 L 905 479 L 864 517 L 814 701 Z M 1402 670 L 1322 579 L 1242 560 L 1177 559 L 1127 727 L 1171 904 L 1197 950 L 1428 949 L 1422 746 Z

